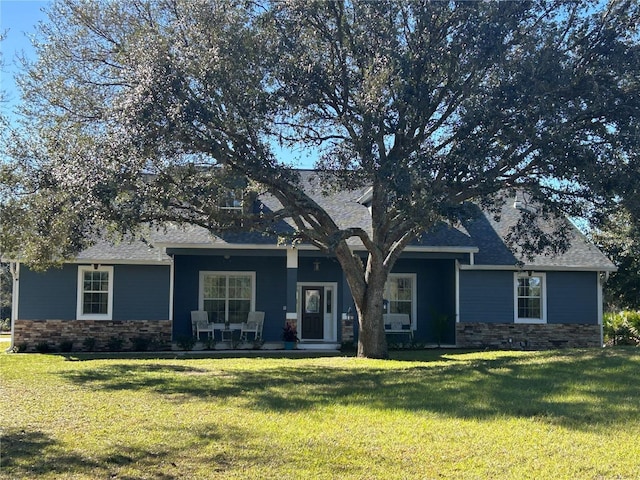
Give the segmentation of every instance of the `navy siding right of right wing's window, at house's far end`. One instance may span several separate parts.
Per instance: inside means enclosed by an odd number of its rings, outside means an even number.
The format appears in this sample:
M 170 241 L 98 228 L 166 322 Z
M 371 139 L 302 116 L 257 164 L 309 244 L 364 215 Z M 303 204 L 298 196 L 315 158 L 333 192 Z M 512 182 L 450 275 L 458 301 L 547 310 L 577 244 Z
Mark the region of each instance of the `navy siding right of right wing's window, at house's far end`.
M 598 324 L 596 272 L 547 273 L 547 323 Z

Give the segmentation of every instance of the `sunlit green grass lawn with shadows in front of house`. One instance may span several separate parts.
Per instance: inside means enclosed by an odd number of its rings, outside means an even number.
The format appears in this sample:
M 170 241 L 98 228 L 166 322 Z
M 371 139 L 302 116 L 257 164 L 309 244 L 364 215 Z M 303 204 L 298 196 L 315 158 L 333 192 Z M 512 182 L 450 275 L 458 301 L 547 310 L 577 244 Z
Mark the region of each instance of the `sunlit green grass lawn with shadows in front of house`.
M 0 356 L 0 478 L 636 479 L 640 350 Z

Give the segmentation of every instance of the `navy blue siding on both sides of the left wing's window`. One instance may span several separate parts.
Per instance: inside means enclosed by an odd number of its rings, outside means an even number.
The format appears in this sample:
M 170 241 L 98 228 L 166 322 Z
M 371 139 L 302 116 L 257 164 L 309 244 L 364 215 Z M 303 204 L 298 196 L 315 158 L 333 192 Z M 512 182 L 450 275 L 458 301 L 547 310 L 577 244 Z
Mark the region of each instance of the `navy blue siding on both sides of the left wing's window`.
M 169 267 L 115 265 L 113 320 L 169 318 Z M 78 265 L 46 272 L 20 268 L 18 313 L 23 320 L 74 320 L 78 302 Z

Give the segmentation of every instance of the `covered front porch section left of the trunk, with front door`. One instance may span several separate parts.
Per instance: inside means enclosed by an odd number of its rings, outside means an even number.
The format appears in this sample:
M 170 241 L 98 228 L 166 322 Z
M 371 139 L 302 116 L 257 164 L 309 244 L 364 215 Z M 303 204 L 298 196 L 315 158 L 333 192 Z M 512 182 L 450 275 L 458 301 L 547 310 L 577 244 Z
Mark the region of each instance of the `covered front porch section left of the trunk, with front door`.
M 351 336 L 343 312 L 353 299 L 333 258 L 316 250 L 263 245 L 253 249 L 167 249 L 172 257 L 174 342 L 192 334 L 191 312 L 206 312 L 206 349 L 284 348 L 283 329 L 296 329 L 298 349 L 337 349 Z M 241 341 L 250 312 L 263 312 L 260 342 Z M 216 328 L 217 327 L 217 328 Z M 252 340 L 254 337 L 250 337 Z

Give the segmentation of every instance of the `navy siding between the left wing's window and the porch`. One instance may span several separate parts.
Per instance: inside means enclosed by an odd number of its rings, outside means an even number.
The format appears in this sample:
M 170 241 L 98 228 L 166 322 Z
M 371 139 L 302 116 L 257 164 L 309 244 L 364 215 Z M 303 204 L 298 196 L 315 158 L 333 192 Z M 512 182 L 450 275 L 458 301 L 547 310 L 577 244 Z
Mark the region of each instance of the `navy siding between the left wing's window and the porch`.
M 115 265 L 114 320 L 168 320 L 170 267 Z

